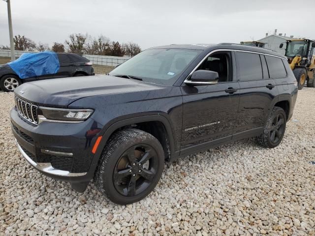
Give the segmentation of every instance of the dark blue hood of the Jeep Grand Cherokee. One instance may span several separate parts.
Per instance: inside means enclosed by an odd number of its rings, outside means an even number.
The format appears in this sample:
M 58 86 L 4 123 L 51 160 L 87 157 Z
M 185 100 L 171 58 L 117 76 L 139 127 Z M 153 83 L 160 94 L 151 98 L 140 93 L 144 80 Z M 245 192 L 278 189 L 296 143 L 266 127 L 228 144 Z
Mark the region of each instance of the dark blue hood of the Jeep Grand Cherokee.
M 20 85 L 14 93 L 38 105 L 66 107 L 84 97 L 160 88 L 142 81 L 95 75 L 34 81 Z

